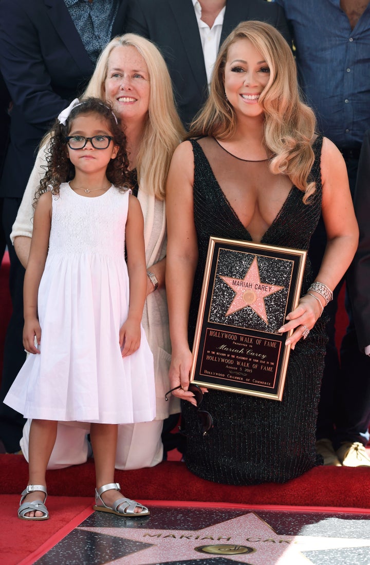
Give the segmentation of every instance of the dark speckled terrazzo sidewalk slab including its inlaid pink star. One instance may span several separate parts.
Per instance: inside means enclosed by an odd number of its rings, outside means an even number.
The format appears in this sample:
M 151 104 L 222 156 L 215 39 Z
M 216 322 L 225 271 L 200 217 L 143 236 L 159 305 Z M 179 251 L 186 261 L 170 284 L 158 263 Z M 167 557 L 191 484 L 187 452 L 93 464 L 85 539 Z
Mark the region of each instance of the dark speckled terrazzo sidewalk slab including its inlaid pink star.
M 367 511 L 185 504 L 152 503 L 142 519 L 95 512 L 37 565 L 370 563 Z

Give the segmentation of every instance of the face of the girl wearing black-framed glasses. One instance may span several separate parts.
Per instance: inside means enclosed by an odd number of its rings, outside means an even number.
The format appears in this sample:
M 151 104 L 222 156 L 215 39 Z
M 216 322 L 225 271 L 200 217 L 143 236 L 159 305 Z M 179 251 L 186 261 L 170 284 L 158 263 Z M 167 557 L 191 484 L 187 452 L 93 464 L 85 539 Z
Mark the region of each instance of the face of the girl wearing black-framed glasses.
M 98 114 L 79 114 L 72 120 L 68 136 L 111 136 L 107 120 Z M 119 147 L 114 145 L 113 140 L 107 149 L 94 149 L 91 142 L 86 142 L 83 149 L 71 149 L 67 145 L 68 157 L 75 166 L 77 173 L 104 173 L 108 163 L 117 155 Z

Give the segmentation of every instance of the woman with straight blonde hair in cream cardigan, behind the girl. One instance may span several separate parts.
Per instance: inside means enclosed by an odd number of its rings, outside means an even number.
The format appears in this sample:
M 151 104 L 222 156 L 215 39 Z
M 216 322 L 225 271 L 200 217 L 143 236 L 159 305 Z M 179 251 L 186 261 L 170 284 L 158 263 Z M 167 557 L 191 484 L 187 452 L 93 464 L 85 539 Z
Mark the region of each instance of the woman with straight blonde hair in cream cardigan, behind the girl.
M 114 38 L 102 51 L 84 97 L 106 99 L 120 119 L 127 137 L 129 169 L 134 194 L 144 216 L 147 298 L 142 325 L 154 356 L 156 418 L 152 422 L 120 425 L 116 468 L 151 467 L 162 461 L 163 420 L 179 412 L 179 401 L 164 401 L 169 387 L 171 345 L 164 271 L 166 268 L 166 178 L 171 157 L 184 134 L 166 63 L 158 49 L 135 34 Z M 47 143 L 47 138 L 44 140 Z M 11 234 L 18 257 L 27 264 L 32 236 L 34 193 L 43 176 L 45 142 L 29 179 Z M 30 422 L 25 424 L 21 448 L 28 459 Z M 78 423 L 59 423 L 48 468 L 83 463 L 88 457 L 88 431 Z

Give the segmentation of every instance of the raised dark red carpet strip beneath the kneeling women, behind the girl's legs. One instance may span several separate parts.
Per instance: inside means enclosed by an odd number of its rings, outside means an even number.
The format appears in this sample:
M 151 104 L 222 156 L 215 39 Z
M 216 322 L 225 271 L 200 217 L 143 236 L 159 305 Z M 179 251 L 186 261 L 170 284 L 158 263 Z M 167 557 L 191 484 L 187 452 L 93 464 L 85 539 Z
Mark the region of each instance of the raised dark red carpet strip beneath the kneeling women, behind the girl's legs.
M 0 455 L 0 494 L 20 494 L 27 478 L 23 456 Z M 370 509 L 369 468 L 315 467 L 285 484 L 232 486 L 199 479 L 184 463 L 166 461 L 152 468 L 116 471 L 115 480 L 134 499 Z M 47 474 L 52 496 L 92 497 L 94 486 L 92 461 Z

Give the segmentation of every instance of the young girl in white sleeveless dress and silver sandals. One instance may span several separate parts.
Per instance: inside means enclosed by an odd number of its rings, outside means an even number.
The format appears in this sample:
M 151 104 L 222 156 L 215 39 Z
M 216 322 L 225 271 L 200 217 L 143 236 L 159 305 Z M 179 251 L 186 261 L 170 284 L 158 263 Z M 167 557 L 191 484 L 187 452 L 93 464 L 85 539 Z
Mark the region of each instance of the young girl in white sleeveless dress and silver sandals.
M 91 423 L 94 509 L 149 514 L 114 483 L 117 424 L 155 417 L 153 356 L 141 330 L 143 217 L 123 186 L 127 167 L 124 134 L 105 103 L 74 101 L 59 115 L 24 280 L 31 355 L 5 399 L 32 418 L 21 519 L 49 518 L 45 472 L 58 420 Z

